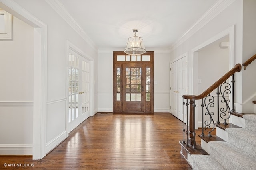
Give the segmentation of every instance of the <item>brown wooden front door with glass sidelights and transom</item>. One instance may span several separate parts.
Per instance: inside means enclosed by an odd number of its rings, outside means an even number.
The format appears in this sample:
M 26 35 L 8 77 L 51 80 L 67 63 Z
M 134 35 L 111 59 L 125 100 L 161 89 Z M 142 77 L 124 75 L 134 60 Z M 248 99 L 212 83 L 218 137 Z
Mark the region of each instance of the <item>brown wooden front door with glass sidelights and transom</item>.
M 154 52 L 114 52 L 113 112 L 153 113 Z

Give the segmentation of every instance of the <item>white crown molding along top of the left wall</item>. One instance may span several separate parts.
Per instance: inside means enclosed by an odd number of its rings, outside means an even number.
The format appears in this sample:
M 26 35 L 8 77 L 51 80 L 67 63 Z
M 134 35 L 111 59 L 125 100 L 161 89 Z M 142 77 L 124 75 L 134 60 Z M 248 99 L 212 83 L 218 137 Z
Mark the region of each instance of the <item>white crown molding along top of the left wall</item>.
M 64 6 L 59 0 L 45 0 L 95 51 L 98 47 L 78 25 L 78 23 L 72 18 Z

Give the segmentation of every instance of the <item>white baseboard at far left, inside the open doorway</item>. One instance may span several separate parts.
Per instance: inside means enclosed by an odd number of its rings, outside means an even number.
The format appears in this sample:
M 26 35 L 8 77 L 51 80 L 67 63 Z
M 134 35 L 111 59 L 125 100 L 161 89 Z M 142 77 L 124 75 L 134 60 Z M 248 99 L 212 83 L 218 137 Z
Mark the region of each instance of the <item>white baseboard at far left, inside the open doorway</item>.
M 32 155 L 33 145 L 0 144 L 0 155 Z

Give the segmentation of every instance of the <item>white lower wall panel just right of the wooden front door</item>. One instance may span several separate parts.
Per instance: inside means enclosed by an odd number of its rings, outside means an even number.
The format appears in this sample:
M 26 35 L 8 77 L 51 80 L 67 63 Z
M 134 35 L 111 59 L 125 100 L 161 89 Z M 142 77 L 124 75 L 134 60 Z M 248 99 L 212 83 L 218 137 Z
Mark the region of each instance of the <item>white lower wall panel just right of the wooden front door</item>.
M 169 113 L 169 92 L 154 92 L 154 112 Z

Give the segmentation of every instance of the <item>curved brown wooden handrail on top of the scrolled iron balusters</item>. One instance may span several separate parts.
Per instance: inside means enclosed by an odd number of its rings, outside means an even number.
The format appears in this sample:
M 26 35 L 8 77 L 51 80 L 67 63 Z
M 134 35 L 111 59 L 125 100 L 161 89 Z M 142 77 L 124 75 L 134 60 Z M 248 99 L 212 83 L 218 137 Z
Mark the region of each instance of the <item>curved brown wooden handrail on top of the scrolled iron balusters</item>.
M 230 76 L 232 76 L 235 72 L 240 72 L 242 70 L 241 64 L 236 64 L 234 68 L 232 68 L 229 72 L 227 72 L 222 78 L 220 78 L 218 81 L 216 81 L 212 86 L 210 86 L 208 89 L 206 89 L 202 94 L 200 95 L 182 95 L 184 99 L 190 99 L 190 100 L 198 100 L 205 98 L 210 92 L 212 92 L 214 89 L 216 89 L 218 86 L 220 86 L 225 80 L 227 80 Z

